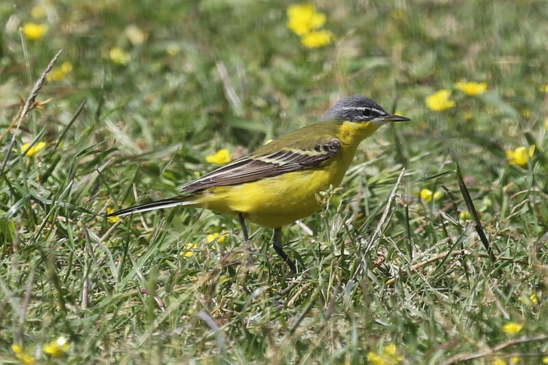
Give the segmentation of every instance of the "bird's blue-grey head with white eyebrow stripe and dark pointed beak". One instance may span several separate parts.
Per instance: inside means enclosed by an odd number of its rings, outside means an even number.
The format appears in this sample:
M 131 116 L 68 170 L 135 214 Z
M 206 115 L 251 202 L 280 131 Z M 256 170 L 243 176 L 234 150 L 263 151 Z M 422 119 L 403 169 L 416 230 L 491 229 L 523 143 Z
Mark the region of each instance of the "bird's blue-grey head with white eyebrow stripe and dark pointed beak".
M 337 101 L 333 108 L 329 109 L 324 121 L 350 121 L 350 122 L 403 122 L 409 121 L 405 116 L 390 114 L 381 108 L 375 101 L 362 97 L 362 95 L 353 95 Z

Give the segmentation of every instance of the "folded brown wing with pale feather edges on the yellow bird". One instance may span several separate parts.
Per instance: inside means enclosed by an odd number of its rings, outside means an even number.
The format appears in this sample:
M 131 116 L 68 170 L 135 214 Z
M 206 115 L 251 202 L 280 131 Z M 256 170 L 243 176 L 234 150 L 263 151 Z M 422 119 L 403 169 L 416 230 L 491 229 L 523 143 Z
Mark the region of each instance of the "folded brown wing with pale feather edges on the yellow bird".
M 312 150 L 284 148 L 273 153 L 249 155 L 192 181 L 184 186 L 181 192 L 199 192 L 214 186 L 238 185 L 264 177 L 299 171 L 329 160 L 339 150 L 340 141 L 333 138 L 316 144 Z

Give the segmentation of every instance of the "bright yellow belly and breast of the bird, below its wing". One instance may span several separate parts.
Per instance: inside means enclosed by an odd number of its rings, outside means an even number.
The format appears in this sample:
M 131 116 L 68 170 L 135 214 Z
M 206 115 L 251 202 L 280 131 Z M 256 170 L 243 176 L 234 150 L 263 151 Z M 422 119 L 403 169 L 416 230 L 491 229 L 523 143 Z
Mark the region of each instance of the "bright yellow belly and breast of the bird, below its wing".
M 244 214 L 263 227 L 276 228 L 310 216 L 319 209 L 316 194 L 338 186 L 348 166 L 343 161 L 204 192 L 197 205 L 230 215 Z

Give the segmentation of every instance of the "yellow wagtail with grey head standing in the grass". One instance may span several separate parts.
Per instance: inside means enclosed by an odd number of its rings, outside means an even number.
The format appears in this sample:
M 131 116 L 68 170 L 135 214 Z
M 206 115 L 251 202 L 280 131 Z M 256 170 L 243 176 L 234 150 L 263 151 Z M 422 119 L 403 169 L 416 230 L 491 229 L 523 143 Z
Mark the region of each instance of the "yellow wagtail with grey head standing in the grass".
M 319 210 L 316 193 L 343 180 L 358 144 L 387 122 L 409 121 L 385 112 L 361 95 L 340 99 L 323 121 L 286 134 L 251 155 L 192 181 L 177 197 L 135 205 L 108 216 L 186 205 L 238 216 L 274 229 L 274 249 L 293 273 L 295 263 L 282 249 L 282 225 Z

